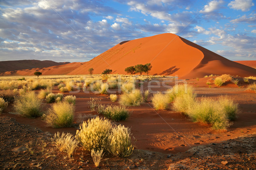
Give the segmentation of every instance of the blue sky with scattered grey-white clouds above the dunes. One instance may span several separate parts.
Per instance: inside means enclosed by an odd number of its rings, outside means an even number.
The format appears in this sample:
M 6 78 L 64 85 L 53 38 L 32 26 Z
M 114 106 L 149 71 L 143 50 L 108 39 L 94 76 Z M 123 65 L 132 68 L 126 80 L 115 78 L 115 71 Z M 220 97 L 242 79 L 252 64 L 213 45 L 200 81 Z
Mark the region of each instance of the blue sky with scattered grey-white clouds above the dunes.
M 84 62 L 167 32 L 256 60 L 256 0 L 0 0 L 0 61 Z

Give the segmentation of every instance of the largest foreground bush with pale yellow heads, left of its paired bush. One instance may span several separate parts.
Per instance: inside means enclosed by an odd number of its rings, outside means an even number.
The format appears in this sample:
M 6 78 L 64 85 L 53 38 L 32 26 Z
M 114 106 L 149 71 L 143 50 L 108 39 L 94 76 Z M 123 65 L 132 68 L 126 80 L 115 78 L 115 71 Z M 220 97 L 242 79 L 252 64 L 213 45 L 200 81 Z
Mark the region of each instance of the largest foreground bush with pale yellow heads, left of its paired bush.
M 76 131 L 76 138 L 85 150 L 106 150 L 111 129 L 112 125 L 109 120 L 92 118 L 83 122 L 80 130 Z

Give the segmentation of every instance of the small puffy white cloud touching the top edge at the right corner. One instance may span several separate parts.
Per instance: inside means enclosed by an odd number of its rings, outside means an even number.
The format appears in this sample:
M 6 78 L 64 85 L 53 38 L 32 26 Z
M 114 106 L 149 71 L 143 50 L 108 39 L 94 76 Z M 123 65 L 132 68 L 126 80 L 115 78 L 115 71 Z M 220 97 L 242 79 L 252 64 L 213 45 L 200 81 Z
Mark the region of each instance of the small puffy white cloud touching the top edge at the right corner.
M 228 6 L 231 9 L 241 10 L 241 11 L 249 11 L 250 7 L 254 6 L 253 0 L 233 0 Z

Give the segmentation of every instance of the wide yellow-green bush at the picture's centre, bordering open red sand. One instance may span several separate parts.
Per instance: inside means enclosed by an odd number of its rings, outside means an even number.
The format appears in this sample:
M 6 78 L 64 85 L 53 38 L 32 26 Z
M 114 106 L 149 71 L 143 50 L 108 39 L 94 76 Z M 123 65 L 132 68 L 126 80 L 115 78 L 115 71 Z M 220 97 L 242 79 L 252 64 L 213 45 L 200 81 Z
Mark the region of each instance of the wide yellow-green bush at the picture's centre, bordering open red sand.
M 133 93 L 124 93 L 120 95 L 119 103 L 125 106 L 140 106 L 142 94 L 139 89 L 135 89 Z

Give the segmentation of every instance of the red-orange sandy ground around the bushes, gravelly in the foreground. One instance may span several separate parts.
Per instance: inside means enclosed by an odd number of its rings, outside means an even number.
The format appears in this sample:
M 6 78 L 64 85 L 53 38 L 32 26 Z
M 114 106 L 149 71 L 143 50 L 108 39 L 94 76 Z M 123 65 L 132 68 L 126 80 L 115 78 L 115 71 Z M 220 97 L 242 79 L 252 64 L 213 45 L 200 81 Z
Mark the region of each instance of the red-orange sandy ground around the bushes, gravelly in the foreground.
M 227 95 L 239 104 L 239 115 L 228 130 L 212 130 L 207 124 L 194 123 L 180 112 L 156 111 L 150 102 L 128 107 L 131 116 L 118 124 L 131 128 L 136 149 L 127 158 L 105 153 L 100 167 L 95 167 L 90 153 L 82 147 L 73 158 L 55 150 L 51 136 L 56 132 L 76 134 L 79 124 L 96 117 L 87 103 L 91 97 L 100 104 L 111 103 L 109 95 L 93 92 L 76 95 L 75 125 L 69 128 L 48 127 L 40 118 L 23 118 L 14 113 L 12 104 L 0 115 L 1 169 L 256 169 L 256 93 L 246 91 L 246 84 L 207 85 L 209 78 L 187 80 L 198 98 Z M 144 82 L 138 88 L 164 91 L 174 81 Z M 163 86 L 163 81 L 164 85 Z M 210 87 L 209 87 L 210 86 Z M 59 92 L 55 86 L 52 92 Z M 111 92 L 116 92 L 112 90 Z M 44 104 L 45 108 L 50 104 Z M 170 104 L 171 106 L 171 104 Z M 102 117 L 102 115 L 99 115 Z

